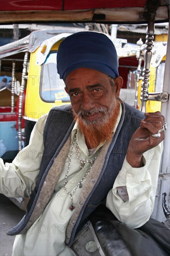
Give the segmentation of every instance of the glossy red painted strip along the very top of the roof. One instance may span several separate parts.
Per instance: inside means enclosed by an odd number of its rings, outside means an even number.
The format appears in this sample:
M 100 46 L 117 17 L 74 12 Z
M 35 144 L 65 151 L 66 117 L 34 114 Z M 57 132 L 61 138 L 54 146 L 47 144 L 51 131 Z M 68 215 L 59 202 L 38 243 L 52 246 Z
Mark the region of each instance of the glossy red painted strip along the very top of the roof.
M 0 11 L 144 7 L 147 0 L 0 0 Z

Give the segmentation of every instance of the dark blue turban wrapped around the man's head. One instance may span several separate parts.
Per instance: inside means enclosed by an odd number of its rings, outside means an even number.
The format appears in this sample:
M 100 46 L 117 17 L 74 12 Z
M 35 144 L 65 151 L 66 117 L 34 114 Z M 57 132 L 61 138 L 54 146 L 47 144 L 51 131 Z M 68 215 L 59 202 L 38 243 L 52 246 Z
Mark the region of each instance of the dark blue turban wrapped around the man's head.
M 57 54 L 60 79 L 79 67 L 92 68 L 116 78 L 118 56 L 112 41 L 104 34 L 78 32 L 63 40 Z

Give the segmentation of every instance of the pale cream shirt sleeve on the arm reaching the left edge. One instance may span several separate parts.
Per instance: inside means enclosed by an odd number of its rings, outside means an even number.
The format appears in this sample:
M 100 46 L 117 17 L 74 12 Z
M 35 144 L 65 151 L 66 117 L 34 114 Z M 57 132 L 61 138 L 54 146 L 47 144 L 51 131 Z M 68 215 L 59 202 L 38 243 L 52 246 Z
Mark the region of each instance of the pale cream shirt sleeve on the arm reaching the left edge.
M 7 197 L 29 197 L 35 188 L 44 152 L 46 117 L 37 121 L 29 145 L 18 153 L 12 163 L 4 164 L 0 158 L 0 193 Z

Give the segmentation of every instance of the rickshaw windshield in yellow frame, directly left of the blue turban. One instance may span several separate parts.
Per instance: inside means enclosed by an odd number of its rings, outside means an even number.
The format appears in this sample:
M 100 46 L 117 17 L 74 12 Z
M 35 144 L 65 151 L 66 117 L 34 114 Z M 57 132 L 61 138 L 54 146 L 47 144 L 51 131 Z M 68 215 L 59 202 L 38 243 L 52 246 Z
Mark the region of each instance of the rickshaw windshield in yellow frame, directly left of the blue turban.
M 65 83 L 57 73 L 57 52 L 52 52 L 42 65 L 40 76 L 40 96 L 43 101 L 70 101 L 65 92 Z

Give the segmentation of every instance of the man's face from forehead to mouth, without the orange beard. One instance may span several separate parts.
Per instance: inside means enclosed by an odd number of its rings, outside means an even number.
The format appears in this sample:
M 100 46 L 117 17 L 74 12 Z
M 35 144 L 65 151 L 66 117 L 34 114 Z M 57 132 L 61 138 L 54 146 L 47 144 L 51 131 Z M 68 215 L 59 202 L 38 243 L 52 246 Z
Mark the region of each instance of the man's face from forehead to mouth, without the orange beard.
M 105 118 L 103 110 L 109 111 L 112 102 L 119 96 L 122 80 L 120 77 L 116 78 L 115 85 L 112 87 L 111 78 L 106 74 L 81 67 L 67 75 L 65 85 L 73 111 L 78 114 L 83 110 L 84 114 L 81 117 L 88 123 Z M 92 109 L 100 111 L 94 111 L 94 113 L 91 111 L 89 114 L 88 111 Z

